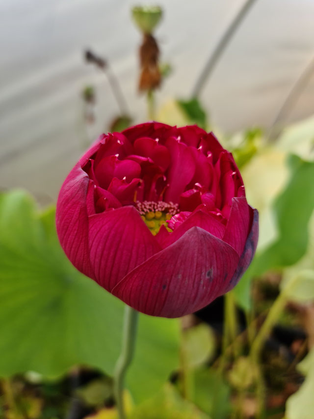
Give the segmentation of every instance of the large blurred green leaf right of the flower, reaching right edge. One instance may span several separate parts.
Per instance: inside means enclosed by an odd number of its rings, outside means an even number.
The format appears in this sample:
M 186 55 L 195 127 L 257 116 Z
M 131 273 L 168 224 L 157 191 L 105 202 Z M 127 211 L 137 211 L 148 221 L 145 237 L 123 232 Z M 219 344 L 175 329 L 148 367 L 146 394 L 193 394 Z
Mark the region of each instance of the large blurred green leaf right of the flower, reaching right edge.
M 249 306 L 249 284 L 254 276 L 293 265 L 307 250 L 308 223 L 314 209 L 314 162 L 290 156 L 288 164 L 290 179 L 273 203 L 278 237 L 266 249 L 257 252 L 235 287 L 236 301 L 244 308 Z

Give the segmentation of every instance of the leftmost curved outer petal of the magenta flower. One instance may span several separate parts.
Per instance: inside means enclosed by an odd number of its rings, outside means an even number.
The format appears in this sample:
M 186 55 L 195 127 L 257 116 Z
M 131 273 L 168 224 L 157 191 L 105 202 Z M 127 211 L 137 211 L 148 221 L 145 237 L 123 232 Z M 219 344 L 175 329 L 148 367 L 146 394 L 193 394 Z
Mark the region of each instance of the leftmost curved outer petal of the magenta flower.
M 94 278 L 94 273 L 88 251 L 87 209 L 93 207 L 93 189 L 94 183 L 89 181 L 87 173 L 78 163 L 65 179 L 56 207 L 56 227 L 61 246 L 73 265 L 91 278 Z

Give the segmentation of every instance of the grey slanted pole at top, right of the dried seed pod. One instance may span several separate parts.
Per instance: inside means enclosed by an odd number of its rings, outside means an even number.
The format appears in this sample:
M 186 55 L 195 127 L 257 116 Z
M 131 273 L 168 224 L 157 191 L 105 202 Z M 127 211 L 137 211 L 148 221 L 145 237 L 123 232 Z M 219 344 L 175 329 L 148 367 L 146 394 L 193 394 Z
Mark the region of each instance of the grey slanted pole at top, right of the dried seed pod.
M 243 18 L 249 11 L 250 7 L 256 0 L 246 0 L 244 1 L 243 5 L 240 7 L 240 10 L 236 13 L 234 19 L 232 20 L 231 24 L 226 28 L 224 33 L 222 34 L 221 38 L 219 39 L 217 45 L 215 46 L 213 52 L 210 54 L 205 67 L 203 68 L 200 76 L 196 80 L 196 83 L 192 90 L 192 97 L 197 97 L 204 84 L 207 82 L 210 74 L 212 73 L 215 65 L 217 64 L 220 56 L 224 52 L 225 48 L 227 47 L 229 41 L 231 40 L 233 34 L 235 33 L 236 29 L 239 27 L 240 23 L 242 22 Z

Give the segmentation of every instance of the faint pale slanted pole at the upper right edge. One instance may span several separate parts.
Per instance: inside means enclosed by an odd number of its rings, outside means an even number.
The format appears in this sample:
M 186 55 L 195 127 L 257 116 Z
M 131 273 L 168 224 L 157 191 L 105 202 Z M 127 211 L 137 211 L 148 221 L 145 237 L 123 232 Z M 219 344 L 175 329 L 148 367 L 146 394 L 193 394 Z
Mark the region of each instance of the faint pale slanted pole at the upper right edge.
M 279 126 L 279 122 L 284 118 L 284 116 L 291 110 L 294 103 L 298 100 L 301 93 L 303 92 L 305 86 L 310 81 L 314 73 L 314 57 L 310 63 L 306 66 L 304 71 L 301 73 L 300 77 L 293 84 L 291 90 L 288 93 L 288 96 L 280 108 L 274 122 L 272 123 L 269 132 L 268 140 L 275 140 L 282 130 L 282 126 Z

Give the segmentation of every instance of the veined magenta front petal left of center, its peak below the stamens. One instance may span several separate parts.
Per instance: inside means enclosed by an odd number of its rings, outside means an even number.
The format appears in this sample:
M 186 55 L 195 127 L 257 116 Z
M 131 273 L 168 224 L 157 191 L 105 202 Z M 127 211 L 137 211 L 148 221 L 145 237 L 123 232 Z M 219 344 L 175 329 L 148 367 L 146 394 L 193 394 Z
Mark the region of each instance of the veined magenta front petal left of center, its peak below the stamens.
M 111 291 L 161 248 L 138 211 L 125 206 L 89 218 L 89 249 L 96 281 Z

